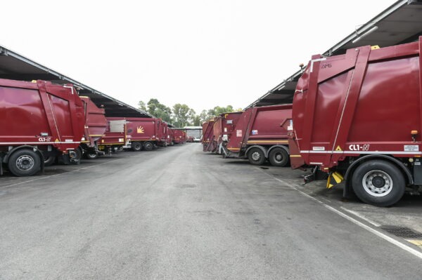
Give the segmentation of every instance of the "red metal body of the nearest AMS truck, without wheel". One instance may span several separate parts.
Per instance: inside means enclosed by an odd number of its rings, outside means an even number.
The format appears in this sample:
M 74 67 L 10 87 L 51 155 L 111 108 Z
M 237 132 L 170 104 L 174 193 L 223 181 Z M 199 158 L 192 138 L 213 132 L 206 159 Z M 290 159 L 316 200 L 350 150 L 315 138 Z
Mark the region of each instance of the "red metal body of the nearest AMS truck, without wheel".
M 305 164 L 323 171 L 348 156 L 420 157 L 421 47 L 422 37 L 399 46 L 312 56 L 293 100 L 290 149 L 295 145 Z

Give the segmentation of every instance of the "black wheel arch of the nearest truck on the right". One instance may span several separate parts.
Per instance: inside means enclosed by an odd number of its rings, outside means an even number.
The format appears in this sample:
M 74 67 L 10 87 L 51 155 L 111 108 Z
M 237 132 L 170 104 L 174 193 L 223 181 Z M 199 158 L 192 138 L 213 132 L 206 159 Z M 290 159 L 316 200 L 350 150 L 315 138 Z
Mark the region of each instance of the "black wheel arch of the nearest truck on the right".
M 347 171 L 345 173 L 345 188 L 343 189 L 343 196 L 345 197 L 349 196 L 350 192 L 353 192 L 351 179 L 352 179 L 352 174 L 354 170 L 356 170 L 357 166 L 359 166 L 359 164 L 362 164 L 365 161 L 373 160 L 373 159 L 383 159 L 394 164 L 395 166 L 397 166 L 397 168 L 399 168 L 400 171 L 402 171 L 404 179 L 407 181 L 408 185 L 413 185 L 414 180 L 411 177 L 411 173 L 409 169 L 407 169 L 406 166 L 404 166 L 402 161 L 399 161 L 398 159 L 395 159 L 394 157 L 388 156 L 386 154 L 369 154 L 357 159 L 347 168 Z

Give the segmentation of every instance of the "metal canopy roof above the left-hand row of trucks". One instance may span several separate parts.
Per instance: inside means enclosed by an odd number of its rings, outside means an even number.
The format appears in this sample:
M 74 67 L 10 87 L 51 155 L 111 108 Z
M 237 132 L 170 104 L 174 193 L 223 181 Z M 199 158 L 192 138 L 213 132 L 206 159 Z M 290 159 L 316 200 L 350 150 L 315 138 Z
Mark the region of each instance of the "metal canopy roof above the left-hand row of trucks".
M 0 46 L 0 78 L 20 81 L 40 79 L 56 84 L 71 83 L 79 88 L 79 95 L 88 96 L 95 105 L 103 107 L 106 110 L 106 116 L 153 117 L 147 112 L 96 91 L 94 88 L 85 86 L 78 81 L 70 79 L 68 76 L 53 71 L 2 46 Z

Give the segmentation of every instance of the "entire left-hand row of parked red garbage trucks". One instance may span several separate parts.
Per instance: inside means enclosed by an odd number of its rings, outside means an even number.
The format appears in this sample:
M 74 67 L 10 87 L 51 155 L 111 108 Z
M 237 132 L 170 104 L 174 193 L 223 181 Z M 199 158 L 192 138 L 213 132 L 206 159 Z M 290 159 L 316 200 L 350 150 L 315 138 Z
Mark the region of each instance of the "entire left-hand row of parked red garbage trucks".
M 56 161 L 79 164 L 82 156 L 184 142 L 186 132 L 161 119 L 106 117 L 72 84 L 0 79 L 0 175 L 4 167 L 29 176 Z

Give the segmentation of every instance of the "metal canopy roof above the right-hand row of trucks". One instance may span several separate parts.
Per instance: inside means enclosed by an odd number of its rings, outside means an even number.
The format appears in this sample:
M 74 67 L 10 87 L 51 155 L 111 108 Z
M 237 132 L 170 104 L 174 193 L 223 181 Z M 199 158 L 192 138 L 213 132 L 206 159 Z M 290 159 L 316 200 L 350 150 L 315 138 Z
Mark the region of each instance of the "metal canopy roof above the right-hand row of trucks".
M 422 36 L 422 0 L 399 0 L 323 55 L 340 55 L 348 48 L 357 46 L 394 46 L 416 41 L 418 36 Z M 293 102 L 293 94 L 301 74 L 302 70 L 295 72 L 246 108 Z

